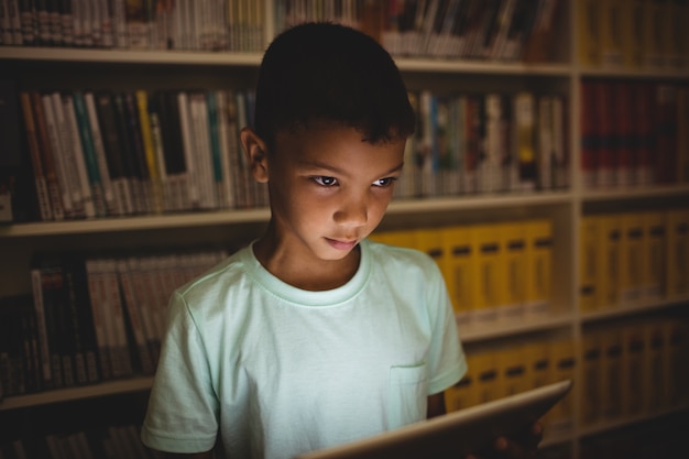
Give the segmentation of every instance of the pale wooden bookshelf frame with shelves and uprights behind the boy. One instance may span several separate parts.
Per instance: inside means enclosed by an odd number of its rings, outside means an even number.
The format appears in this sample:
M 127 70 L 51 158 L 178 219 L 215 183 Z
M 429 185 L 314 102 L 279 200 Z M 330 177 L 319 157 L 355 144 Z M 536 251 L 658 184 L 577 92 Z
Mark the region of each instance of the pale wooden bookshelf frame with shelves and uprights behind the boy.
M 689 64 L 682 68 L 628 69 L 582 63 L 579 55 L 578 6 L 560 0 L 555 19 L 555 52 L 547 62 L 499 62 L 491 59 L 396 57 L 409 89 L 431 88 L 437 94 L 514 94 L 526 90 L 557 94 L 566 100 L 566 147 L 568 182 L 562 189 L 462 194 L 425 198 L 396 198 L 381 231 L 469 226 L 547 218 L 553 222 L 553 313 L 533 320 L 472 327 L 461 330 L 468 349 L 490 348 L 518 340 L 565 337 L 580 342 L 591 327 L 614 326 L 653 317 L 687 319 L 687 294 L 639 299 L 610 310 L 579 308 L 579 266 L 582 245 L 579 228 L 588 215 L 687 208 L 689 183 L 587 188 L 582 184 L 580 83 L 584 79 L 659 81 L 687 86 Z M 605 2 L 602 2 L 605 3 Z M 264 0 L 264 41 L 276 31 L 273 0 Z M 2 78 L 14 79 L 25 90 L 80 90 L 89 87 L 118 90 L 251 88 L 261 54 L 251 52 L 136 51 L 65 47 L 0 46 Z M 50 78 L 46 77 L 50 75 Z M 19 114 L 18 114 L 19 116 Z M 689 160 L 688 160 L 689 161 Z M 108 251 L 166 250 L 197 244 L 234 248 L 260 234 L 269 219 L 266 208 L 174 212 L 89 220 L 33 221 L 0 226 L 0 296 L 31 292 L 28 275 L 35 253 L 55 248 L 96 253 Z M 577 356 L 580 357 L 580 356 Z M 582 379 L 581 365 L 576 379 Z M 145 394 L 151 378 L 108 381 L 94 385 L 8 396 L 0 401 L 0 419 L 23 419 L 34 412 L 72 403 L 125 394 Z M 583 393 L 573 391 L 573 424 L 546 438 L 546 446 L 562 456 L 586 457 L 583 445 L 591 438 L 614 434 L 646 420 L 686 414 L 687 406 L 648 415 L 605 419 L 580 425 Z

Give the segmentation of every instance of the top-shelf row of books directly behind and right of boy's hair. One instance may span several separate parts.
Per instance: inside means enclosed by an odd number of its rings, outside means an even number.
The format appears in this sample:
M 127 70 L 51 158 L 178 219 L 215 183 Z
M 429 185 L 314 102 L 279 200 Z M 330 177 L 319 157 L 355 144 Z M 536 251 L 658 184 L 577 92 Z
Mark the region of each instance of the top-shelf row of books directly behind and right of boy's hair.
M 393 55 L 550 61 L 560 0 L 276 1 L 276 30 L 304 21 L 356 26 Z

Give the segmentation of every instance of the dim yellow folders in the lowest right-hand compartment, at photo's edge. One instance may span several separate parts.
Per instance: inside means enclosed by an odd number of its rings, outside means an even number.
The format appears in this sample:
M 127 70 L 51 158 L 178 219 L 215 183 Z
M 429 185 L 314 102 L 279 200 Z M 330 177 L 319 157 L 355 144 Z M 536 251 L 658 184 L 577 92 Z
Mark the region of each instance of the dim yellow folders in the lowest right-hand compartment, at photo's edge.
M 586 330 L 581 424 L 634 418 L 689 403 L 689 327 L 655 318 Z

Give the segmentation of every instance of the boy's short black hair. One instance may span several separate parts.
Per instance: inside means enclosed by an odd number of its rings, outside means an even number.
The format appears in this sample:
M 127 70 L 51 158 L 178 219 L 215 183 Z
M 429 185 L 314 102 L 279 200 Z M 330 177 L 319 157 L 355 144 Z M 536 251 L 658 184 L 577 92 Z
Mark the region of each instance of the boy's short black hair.
M 406 139 L 415 114 L 391 55 L 356 29 L 308 22 L 270 44 L 255 92 L 254 129 L 274 146 L 281 130 L 332 121 L 361 131 L 370 143 Z

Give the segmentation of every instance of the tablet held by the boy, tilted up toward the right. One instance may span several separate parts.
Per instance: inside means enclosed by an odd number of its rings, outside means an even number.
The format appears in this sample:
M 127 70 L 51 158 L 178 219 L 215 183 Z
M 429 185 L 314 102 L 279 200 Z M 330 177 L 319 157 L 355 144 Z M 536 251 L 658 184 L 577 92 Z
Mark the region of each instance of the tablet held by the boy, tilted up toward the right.
M 501 435 L 533 425 L 571 385 L 571 380 L 560 381 L 296 459 L 457 459 L 490 448 Z

